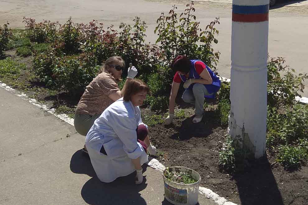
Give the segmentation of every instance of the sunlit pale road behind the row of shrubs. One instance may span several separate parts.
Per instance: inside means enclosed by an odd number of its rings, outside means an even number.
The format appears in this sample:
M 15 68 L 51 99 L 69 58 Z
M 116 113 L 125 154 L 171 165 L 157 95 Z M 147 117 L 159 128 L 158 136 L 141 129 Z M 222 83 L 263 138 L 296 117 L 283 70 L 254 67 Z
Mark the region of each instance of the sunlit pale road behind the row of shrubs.
M 147 41 L 155 42 L 156 19 L 161 11 L 168 12 L 173 4 L 178 13 L 184 11 L 189 1 L 171 0 L 54 0 L 54 1 L 0 1 L 0 24 L 9 21 L 12 27 L 23 28 L 22 17 L 32 17 L 65 23 L 69 16 L 75 22 L 89 22 L 92 19 L 104 22 L 106 26 L 120 22 L 132 24 L 134 16 L 140 16 L 148 25 Z M 297 1 L 305 2 L 306 1 Z M 220 17 L 219 43 L 214 46 L 221 52 L 217 68 L 220 75 L 230 77 L 231 61 L 231 4 L 217 2 L 195 2 L 197 19 L 205 27 L 215 17 Z M 285 7 L 277 5 L 269 14 L 268 52 L 272 57 L 285 57 L 287 64 L 297 73 L 308 72 L 308 6 Z M 308 83 L 305 83 L 308 85 Z M 308 97 L 308 89 L 303 96 Z

